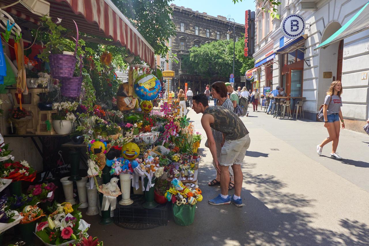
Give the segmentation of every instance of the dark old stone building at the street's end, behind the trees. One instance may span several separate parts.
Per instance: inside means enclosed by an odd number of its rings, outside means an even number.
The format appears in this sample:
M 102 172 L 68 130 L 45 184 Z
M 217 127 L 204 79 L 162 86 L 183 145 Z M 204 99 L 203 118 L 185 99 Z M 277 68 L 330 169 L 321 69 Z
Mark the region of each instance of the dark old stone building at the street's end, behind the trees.
M 189 49 L 194 46 L 201 46 L 207 42 L 233 39 L 233 33 L 228 34 L 229 22 L 226 17 L 218 15 L 217 17 L 208 15 L 207 13 L 199 13 L 199 11 L 193 11 L 190 8 L 183 6 L 179 7 L 175 4 L 170 5 L 173 8 L 172 21 L 176 26 L 176 36 L 170 38 L 169 46 L 171 54 L 177 54 L 179 60 L 178 63 L 169 62 L 168 70 L 175 71 L 175 80 L 170 83 L 172 90 L 178 90 L 178 87 L 184 89 L 184 83 L 187 83 L 190 88 L 196 93 L 203 92 L 205 90 L 208 80 L 203 79 L 201 76 L 192 75 L 187 73 L 184 67 L 182 67 L 182 56 L 189 53 Z M 233 32 L 233 28 L 232 32 Z M 244 24 L 236 23 L 235 27 L 235 41 L 238 38 L 242 38 L 245 32 Z M 170 54 L 170 55 L 171 55 Z M 161 58 L 162 59 L 162 58 Z M 165 60 L 165 59 L 164 59 Z M 159 65 L 159 64 L 158 64 Z M 166 66 L 166 64 L 163 64 Z M 162 66 L 162 60 L 160 65 Z M 231 72 L 231 71 L 230 71 Z M 217 80 L 227 80 L 228 78 L 214 78 L 214 82 Z M 240 78 L 236 78 L 235 82 L 240 82 Z

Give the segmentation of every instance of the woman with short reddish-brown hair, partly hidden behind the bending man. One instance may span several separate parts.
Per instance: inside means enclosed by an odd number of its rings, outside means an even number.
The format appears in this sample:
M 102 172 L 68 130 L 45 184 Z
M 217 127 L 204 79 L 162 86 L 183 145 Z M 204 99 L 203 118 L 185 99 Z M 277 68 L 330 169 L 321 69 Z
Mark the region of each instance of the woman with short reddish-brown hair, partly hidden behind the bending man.
M 217 81 L 215 83 L 213 83 L 211 85 L 211 93 L 213 93 L 213 97 L 218 99 L 218 105 L 222 106 L 224 108 L 227 108 L 231 111 L 233 111 L 233 104 L 231 102 L 231 100 L 229 100 L 227 98 L 227 87 L 225 86 L 224 82 L 221 81 Z M 215 105 L 216 106 L 216 105 Z M 217 148 L 217 158 L 219 160 L 220 158 L 220 151 L 222 149 L 221 144 L 223 142 L 223 134 L 220 131 L 211 129 L 213 131 L 213 137 L 215 140 L 215 147 Z M 205 143 L 205 146 L 208 147 L 208 143 Z M 217 177 L 215 177 L 215 179 L 211 180 L 208 183 L 208 186 L 215 186 L 220 184 L 220 173 L 217 170 L 217 167 L 215 166 L 215 160 L 213 159 L 213 166 L 215 168 L 215 171 L 217 172 Z M 232 167 L 229 167 L 229 172 L 231 174 L 231 181 L 230 184 L 228 186 L 228 190 L 232 190 L 234 188 L 234 183 L 232 183 L 233 181 L 233 169 Z

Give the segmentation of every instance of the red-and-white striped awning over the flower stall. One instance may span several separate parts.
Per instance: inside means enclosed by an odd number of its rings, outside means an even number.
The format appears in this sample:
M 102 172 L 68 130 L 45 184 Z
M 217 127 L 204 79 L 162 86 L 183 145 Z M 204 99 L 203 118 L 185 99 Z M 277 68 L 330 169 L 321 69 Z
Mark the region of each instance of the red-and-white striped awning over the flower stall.
M 152 68 L 156 67 L 154 48 L 142 37 L 131 22 L 110 0 L 47 0 L 50 3 L 50 17 L 61 18 L 61 25 L 68 29 L 78 29 L 87 34 L 107 37 L 115 42 L 112 45 L 123 46 L 130 53 L 139 56 Z M 15 0 L 0 0 L 8 5 Z M 39 24 L 39 16 L 31 13 L 22 4 L 5 9 L 18 17 Z

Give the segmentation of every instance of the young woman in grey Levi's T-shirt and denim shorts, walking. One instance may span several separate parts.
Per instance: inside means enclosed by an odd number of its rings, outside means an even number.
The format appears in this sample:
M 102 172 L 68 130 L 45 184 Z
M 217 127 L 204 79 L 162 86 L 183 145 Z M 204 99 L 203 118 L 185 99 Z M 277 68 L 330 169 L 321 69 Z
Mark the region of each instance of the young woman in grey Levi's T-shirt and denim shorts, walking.
M 342 122 L 342 129 L 345 129 L 344 118 L 342 117 L 342 83 L 338 80 L 331 83 L 327 91 L 327 96 L 324 99 L 323 115 L 324 115 L 324 127 L 327 128 L 329 137 L 317 145 L 318 155 L 322 154 L 323 146 L 333 141 L 331 158 L 342 159 L 341 156 L 336 153 L 339 139 L 339 120 Z

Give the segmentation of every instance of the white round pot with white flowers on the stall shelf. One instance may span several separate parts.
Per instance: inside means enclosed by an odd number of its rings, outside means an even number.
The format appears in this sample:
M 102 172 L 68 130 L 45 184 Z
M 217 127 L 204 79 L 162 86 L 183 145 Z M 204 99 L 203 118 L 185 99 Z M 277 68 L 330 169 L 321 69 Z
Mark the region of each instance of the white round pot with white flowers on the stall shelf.
M 74 111 L 77 109 L 77 102 L 53 103 L 52 109 L 58 113 L 52 115 L 52 125 L 57 134 L 69 134 L 72 132 L 72 123 L 76 121 Z

